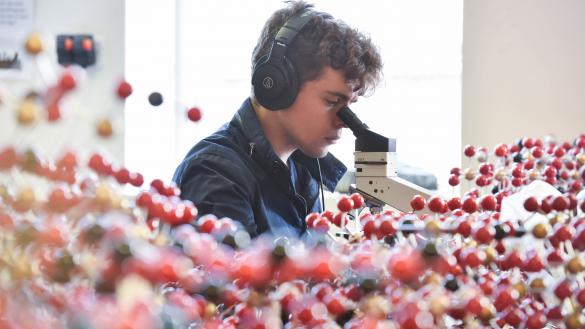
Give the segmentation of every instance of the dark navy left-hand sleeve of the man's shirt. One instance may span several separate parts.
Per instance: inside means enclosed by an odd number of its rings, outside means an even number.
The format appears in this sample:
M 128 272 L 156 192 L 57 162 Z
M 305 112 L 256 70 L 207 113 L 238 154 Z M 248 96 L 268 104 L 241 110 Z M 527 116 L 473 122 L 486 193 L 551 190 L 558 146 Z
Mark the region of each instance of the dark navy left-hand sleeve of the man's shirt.
M 191 200 L 199 214 L 229 217 L 240 222 L 253 236 L 257 226 L 252 209 L 251 174 L 243 164 L 216 154 L 200 154 L 191 159 L 185 170 L 176 177 L 181 198 Z

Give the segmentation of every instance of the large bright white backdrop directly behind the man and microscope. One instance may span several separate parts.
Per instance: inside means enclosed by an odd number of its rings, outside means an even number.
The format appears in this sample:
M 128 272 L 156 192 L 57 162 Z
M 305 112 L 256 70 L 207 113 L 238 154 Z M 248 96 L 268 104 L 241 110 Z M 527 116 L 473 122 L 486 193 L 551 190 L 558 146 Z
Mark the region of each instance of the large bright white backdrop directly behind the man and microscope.
M 401 162 L 432 172 L 450 191 L 449 170 L 459 164 L 461 149 L 463 1 L 310 2 L 369 34 L 380 48 L 384 81 L 352 109 L 372 130 L 397 139 Z M 250 94 L 253 47 L 266 19 L 283 6 L 281 0 L 178 2 L 177 101 L 183 111 L 200 106 L 203 117 L 194 124 L 177 112 L 177 163 Z M 348 130 L 331 147 L 350 168 L 354 141 Z

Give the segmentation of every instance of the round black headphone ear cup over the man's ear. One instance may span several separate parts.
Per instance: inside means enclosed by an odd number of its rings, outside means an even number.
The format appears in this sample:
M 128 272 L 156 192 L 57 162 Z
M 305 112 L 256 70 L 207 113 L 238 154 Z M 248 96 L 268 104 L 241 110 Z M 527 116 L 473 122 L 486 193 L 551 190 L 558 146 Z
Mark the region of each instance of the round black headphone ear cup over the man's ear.
M 258 61 L 254 69 L 252 86 L 258 102 L 268 110 L 278 111 L 294 102 L 298 92 L 298 77 L 294 66 L 286 57 L 281 64 L 268 62 L 268 56 Z

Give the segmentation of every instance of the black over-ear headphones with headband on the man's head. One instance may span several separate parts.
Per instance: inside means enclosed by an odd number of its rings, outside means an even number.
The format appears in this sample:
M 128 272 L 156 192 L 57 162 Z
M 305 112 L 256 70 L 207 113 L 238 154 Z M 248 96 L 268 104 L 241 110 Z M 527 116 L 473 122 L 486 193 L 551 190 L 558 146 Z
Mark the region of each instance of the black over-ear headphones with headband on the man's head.
M 268 110 L 287 108 L 297 97 L 299 77 L 293 63 L 286 57 L 286 51 L 312 16 L 311 10 L 304 10 L 289 18 L 278 30 L 268 55 L 260 58 L 254 67 L 254 96 Z

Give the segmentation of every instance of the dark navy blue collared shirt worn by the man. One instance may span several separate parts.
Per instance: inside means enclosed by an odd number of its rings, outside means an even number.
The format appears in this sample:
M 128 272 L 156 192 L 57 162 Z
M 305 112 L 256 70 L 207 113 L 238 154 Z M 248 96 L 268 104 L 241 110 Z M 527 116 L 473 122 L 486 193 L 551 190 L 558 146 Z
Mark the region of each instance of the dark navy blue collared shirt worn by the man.
M 321 175 L 317 159 L 299 150 L 288 161 L 272 149 L 247 99 L 228 124 L 187 153 L 173 181 L 201 215 L 239 221 L 252 236 L 301 236 L 306 215 L 321 209 L 319 177 L 333 191 L 347 168 L 329 153 L 319 159 Z

